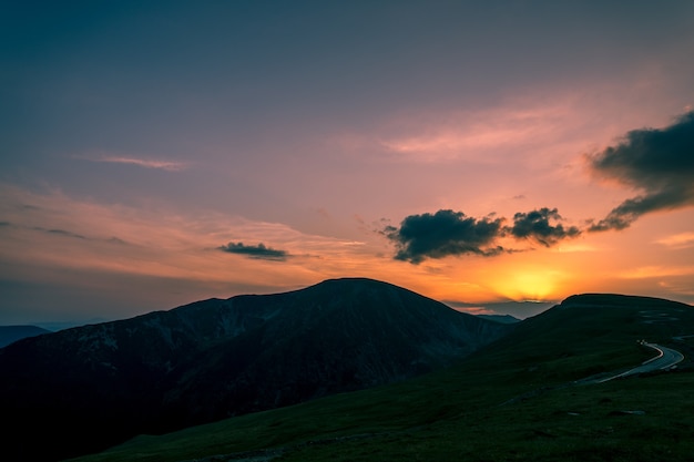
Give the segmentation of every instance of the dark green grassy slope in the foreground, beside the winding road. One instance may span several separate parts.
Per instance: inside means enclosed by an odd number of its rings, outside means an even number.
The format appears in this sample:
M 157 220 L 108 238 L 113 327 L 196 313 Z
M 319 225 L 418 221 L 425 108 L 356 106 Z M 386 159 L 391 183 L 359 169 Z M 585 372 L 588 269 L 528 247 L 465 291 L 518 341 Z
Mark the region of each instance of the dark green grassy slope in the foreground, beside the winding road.
M 637 346 L 642 338 L 686 355 L 687 345 L 672 340 L 685 335 L 694 335 L 694 309 L 686 305 L 571 297 L 445 371 L 172 434 L 143 435 L 78 460 L 186 461 L 239 452 L 257 461 L 691 460 L 694 373 L 686 367 L 676 373 L 563 387 L 652 356 Z M 533 397 L 501 405 L 519 396 Z

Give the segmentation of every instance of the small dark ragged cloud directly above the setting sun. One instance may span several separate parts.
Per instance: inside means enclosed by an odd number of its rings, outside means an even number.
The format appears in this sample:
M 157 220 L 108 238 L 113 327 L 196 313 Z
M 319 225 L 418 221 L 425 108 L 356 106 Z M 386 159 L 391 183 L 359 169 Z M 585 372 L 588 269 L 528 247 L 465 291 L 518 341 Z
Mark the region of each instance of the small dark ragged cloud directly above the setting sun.
M 564 228 L 562 225 L 550 224 L 550 220 L 561 220 L 561 215 L 557 208 L 540 208 L 528 213 L 517 213 L 513 215 L 513 226 L 506 230 L 518 239 L 531 239 L 545 247 L 551 247 L 558 242 L 576 237 L 581 230 L 575 226 Z

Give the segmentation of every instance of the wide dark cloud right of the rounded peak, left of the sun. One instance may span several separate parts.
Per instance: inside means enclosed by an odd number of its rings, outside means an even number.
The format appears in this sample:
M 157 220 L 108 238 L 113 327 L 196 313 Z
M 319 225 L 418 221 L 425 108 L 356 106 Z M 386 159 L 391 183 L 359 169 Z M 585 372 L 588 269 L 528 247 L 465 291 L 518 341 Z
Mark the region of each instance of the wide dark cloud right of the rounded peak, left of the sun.
M 494 239 L 502 223 L 503 218 L 476 219 L 447 209 L 433 215 L 410 215 L 399 228 L 386 226 L 384 234 L 397 246 L 396 259 L 419 264 L 427 257 L 498 255 L 503 248 L 494 246 Z

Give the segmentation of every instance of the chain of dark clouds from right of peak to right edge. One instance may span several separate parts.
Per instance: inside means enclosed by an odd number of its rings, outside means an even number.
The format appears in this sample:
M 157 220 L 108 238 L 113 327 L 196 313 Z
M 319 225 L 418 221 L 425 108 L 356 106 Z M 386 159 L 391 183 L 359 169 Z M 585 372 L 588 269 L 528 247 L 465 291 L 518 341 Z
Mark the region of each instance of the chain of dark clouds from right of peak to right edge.
M 585 232 L 619 230 L 642 215 L 694 206 L 694 111 L 664 129 L 627 132 L 615 146 L 588 156 L 589 167 L 599 177 L 641 192 L 613 208 L 601 220 L 589 220 Z M 419 264 L 426 258 L 479 255 L 484 257 L 517 251 L 498 239 L 510 237 L 552 247 L 580 236 L 576 226 L 560 224 L 557 208 L 542 207 L 507 219 L 490 214 L 472 218 L 462 212 L 441 209 L 435 214 L 410 215 L 400 227 L 381 232 L 396 245 L 395 258 Z

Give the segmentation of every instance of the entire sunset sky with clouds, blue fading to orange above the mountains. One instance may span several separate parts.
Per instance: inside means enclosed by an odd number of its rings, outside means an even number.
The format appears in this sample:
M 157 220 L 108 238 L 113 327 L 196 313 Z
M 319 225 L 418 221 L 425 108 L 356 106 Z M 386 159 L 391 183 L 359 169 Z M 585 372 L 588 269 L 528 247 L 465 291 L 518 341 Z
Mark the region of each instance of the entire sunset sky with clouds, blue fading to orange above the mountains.
M 340 277 L 518 317 L 693 304 L 693 22 L 673 0 L 4 0 L 0 325 Z

